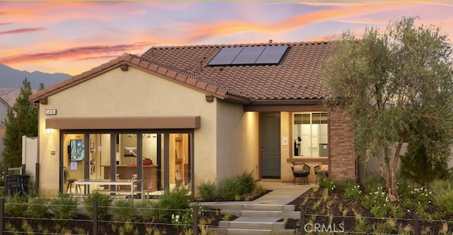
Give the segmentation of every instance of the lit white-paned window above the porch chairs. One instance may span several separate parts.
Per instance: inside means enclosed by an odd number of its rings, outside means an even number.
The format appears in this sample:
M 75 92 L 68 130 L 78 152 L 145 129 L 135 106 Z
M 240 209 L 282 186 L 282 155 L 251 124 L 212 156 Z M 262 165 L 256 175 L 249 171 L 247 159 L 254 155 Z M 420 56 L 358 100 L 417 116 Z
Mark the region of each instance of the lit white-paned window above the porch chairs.
M 325 112 L 293 114 L 294 157 L 328 157 L 328 124 Z

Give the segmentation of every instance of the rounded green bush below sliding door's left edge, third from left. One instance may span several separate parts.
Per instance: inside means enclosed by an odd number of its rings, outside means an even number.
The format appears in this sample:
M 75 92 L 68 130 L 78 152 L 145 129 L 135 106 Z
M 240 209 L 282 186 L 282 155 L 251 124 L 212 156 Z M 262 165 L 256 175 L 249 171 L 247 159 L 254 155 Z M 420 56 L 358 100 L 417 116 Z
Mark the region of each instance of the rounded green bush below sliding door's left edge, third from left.
M 55 219 L 74 219 L 77 217 L 77 199 L 64 195 L 52 198 L 49 210 Z

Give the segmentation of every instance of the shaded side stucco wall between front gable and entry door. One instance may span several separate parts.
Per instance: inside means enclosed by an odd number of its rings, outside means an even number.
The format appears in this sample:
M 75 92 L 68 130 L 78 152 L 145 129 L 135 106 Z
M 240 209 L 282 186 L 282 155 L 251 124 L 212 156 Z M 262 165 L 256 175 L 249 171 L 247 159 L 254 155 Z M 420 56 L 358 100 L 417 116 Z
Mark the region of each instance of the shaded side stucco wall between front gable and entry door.
M 242 104 L 222 100 L 217 104 L 217 182 L 244 171 L 258 179 L 258 112 L 244 112 Z

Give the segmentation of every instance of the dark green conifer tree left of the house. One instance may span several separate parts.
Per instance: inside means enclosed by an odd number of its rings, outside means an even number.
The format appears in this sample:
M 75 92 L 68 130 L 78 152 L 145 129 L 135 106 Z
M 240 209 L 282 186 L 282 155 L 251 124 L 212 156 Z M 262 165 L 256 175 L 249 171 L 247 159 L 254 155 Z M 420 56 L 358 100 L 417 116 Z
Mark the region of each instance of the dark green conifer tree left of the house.
M 8 167 L 20 167 L 22 164 L 22 135 L 38 135 L 38 106 L 28 101 L 32 94 L 30 82 L 25 78 L 21 92 L 16 98 L 12 110 L 8 110 L 4 121 L 6 133 L 4 136 L 3 164 Z M 42 84 L 40 89 L 42 89 Z

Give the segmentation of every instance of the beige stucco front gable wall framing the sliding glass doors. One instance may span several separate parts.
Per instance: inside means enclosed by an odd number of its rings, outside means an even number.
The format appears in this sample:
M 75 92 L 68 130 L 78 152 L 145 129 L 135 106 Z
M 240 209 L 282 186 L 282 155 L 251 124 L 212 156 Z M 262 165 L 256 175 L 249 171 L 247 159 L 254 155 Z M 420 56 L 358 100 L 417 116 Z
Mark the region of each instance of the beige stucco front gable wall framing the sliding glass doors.
M 40 194 L 57 195 L 59 188 L 59 130 L 47 134 L 45 119 L 53 117 L 200 116 L 195 130 L 195 181 L 215 175 L 217 100 L 171 80 L 130 66 L 115 68 L 48 97 L 40 104 Z M 46 116 L 45 109 L 57 109 Z M 55 151 L 55 155 L 51 152 Z M 202 174 L 200 173 L 202 172 Z M 49 180 L 53 179 L 53 180 Z

